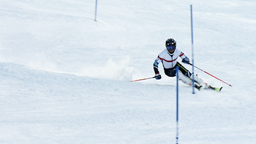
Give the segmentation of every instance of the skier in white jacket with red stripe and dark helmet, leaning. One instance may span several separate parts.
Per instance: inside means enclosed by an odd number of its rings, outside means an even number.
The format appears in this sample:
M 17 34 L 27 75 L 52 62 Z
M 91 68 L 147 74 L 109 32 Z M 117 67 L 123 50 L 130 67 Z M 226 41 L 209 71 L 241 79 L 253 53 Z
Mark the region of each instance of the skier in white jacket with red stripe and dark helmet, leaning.
M 163 63 L 164 67 L 164 73 L 166 76 L 169 77 L 175 77 L 176 76 L 176 66 L 179 67 L 179 80 L 182 81 L 185 84 L 189 84 L 192 86 L 192 74 L 187 70 L 185 67 L 183 67 L 177 59 L 180 57 L 182 58 L 183 63 L 189 64 L 189 58 L 185 56 L 185 54 L 180 51 L 179 49 L 176 49 L 176 41 L 173 38 L 169 38 L 165 42 L 166 49 L 164 49 L 163 52 L 161 52 L 154 62 L 154 71 L 155 71 L 155 78 L 161 79 L 161 75 L 159 74 L 158 70 L 158 64 L 160 62 Z M 195 88 L 200 90 L 202 88 L 202 84 L 204 84 L 204 80 L 201 79 L 198 76 L 194 76 L 195 79 Z

